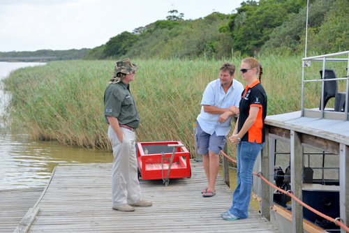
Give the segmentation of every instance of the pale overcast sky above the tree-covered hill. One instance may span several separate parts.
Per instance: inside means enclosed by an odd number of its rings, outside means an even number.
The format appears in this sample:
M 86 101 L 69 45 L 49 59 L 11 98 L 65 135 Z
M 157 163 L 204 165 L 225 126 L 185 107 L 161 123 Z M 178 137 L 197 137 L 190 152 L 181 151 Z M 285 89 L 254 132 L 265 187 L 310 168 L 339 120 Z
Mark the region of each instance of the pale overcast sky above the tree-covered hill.
M 123 31 L 214 11 L 230 14 L 242 0 L 0 0 L 0 52 L 70 50 L 103 45 Z

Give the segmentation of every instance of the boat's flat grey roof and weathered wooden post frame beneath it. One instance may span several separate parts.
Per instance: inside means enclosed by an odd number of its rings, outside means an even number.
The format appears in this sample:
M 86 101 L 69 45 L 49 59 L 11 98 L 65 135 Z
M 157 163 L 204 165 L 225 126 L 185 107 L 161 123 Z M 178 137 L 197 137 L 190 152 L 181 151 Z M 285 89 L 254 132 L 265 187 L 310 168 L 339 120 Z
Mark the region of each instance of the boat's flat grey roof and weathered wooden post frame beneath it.
M 340 186 L 336 188 L 327 186 L 308 186 L 309 190 L 316 190 L 317 192 L 322 189 L 327 192 L 336 189 L 339 192 L 339 206 L 340 212 L 336 214 L 336 217 L 340 217 L 345 225 L 348 220 L 348 200 L 349 196 L 346 195 L 349 192 L 349 121 L 345 120 L 344 112 L 334 112 L 331 109 L 326 109 L 324 112 L 318 109 L 303 110 L 302 112 L 288 112 L 285 114 L 278 114 L 268 116 L 265 119 L 266 140 L 265 147 L 262 150 L 262 156 L 257 160 L 255 172 L 266 171 L 267 174 L 274 174 L 274 165 L 276 155 L 278 153 L 289 154 L 290 162 L 285 163 L 290 165 L 290 183 L 292 183 L 291 191 L 293 195 L 302 200 L 303 190 L 303 165 L 313 165 L 316 169 L 321 169 L 318 165 L 313 163 L 319 157 L 312 157 L 312 153 L 304 151 L 304 148 L 315 149 L 314 155 L 322 153 L 322 176 L 325 177 L 325 169 L 337 169 L 339 171 L 338 181 Z M 319 116 L 324 114 L 324 118 Z M 276 151 L 276 145 L 279 141 L 289 143 L 285 146 L 284 150 Z M 280 149 L 280 148 L 279 148 Z M 331 163 L 325 163 L 325 152 L 332 153 L 332 156 L 336 156 L 331 160 Z M 304 162 L 304 154 L 307 153 L 308 163 Z M 320 160 L 319 160 L 320 161 Z M 333 163 L 333 164 L 332 164 Z M 309 166 L 310 166 L 309 165 Z M 284 167 L 285 169 L 285 167 Z M 326 170 L 327 172 L 329 170 Z M 327 173 L 329 174 L 329 173 Z M 334 175 L 333 175 L 334 176 Z M 265 176 L 266 177 L 266 176 Z M 328 177 L 328 176 L 327 176 Z M 311 177 L 313 179 L 313 177 Z M 319 179 L 319 178 L 315 178 Z M 329 179 L 329 178 L 322 178 Z M 335 179 L 335 178 L 332 178 Z M 273 181 L 274 177 L 269 176 L 269 181 Z M 337 179 L 336 179 L 337 180 Z M 262 189 L 264 188 L 264 189 Z M 304 222 L 303 219 L 303 206 L 297 202 L 292 202 L 292 215 L 291 213 L 285 213 L 281 209 L 276 209 L 272 203 L 273 189 L 269 188 L 265 183 L 261 183 L 259 180 L 253 183 L 253 193 L 258 197 L 263 197 L 264 202 L 260 207 L 264 216 L 267 216 L 274 225 L 276 225 L 283 232 L 313 232 L 315 225 Z M 321 200 L 321 197 L 319 197 Z M 338 197 L 336 197 L 338 198 Z M 304 200 L 306 202 L 306 200 Z M 308 203 L 306 203 L 308 204 Z M 320 204 L 320 202 L 319 202 Z M 320 209 L 319 206 L 313 207 L 323 213 L 331 216 L 332 209 Z M 313 220 L 314 221 L 314 220 Z M 316 230 L 320 231 L 320 230 Z M 315 232 L 316 232 L 315 231 Z M 343 230 L 342 230 L 343 231 Z

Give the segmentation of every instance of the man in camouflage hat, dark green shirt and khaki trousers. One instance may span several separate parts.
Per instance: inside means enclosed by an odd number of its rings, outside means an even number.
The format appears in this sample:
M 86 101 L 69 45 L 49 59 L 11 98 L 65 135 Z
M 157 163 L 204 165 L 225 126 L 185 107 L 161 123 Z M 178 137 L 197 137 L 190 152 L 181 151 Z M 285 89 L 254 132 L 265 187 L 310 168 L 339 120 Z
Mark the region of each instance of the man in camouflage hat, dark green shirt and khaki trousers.
M 151 206 L 142 200 L 135 154 L 135 130 L 140 125 L 130 82 L 138 66 L 124 59 L 115 63 L 110 84 L 104 93 L 105 121 L 114 155 L 112 168 L 112 209 L 135 211 L 134 206 Z

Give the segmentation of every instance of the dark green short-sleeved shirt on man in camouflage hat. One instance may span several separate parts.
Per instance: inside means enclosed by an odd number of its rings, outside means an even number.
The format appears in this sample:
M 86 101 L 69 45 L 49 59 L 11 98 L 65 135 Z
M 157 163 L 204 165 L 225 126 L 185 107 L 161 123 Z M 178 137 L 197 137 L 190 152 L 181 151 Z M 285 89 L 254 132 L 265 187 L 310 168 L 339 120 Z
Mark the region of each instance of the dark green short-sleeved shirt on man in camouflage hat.
M 110 84 L 104 93 L 104 116 L 116 117 L 119 124 L 138 128 L 140 116 L 138 115 L 135 100 L 129 89 L 129 84 L 118 82 Z

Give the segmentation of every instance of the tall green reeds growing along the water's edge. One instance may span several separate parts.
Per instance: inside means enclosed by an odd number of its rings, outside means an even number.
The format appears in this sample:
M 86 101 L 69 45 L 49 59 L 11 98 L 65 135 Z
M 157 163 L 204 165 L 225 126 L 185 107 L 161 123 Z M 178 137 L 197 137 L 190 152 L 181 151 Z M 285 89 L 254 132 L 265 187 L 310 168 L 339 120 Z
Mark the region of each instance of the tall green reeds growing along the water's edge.
M 242 58 L 229 61 L 239 70 Z M 262 85 L 268 95 L 268 115 L 300 110 L 301 58 L 271 56 L 258 61 L 264 68 Z M 202 93 L 218 78 L 223 62 L 133 60 L 140 67 L 131 83 L 141 118 L 137 141 L 180 140 L 193 156 L 193 123 L 200 113 Z M 339 69 L 331 64 L 328 68 Z M 320 77 L 320 69 L 320 62 L 312 63 L 307 78 Z M 113 70 L 114 61 L 52 61 L 15 70 L 3 80 L 12 96 L 6 114 L 11 130 L 25 130 L 40 140 L 111 150 L 103 94 Z M 239 72 L 235 78 L 246 85 Z M 306 107 L 318 107 L 319 85 L 306 86 Z M 233 146 L 228 148 L 229 154 L 235 154 Z

